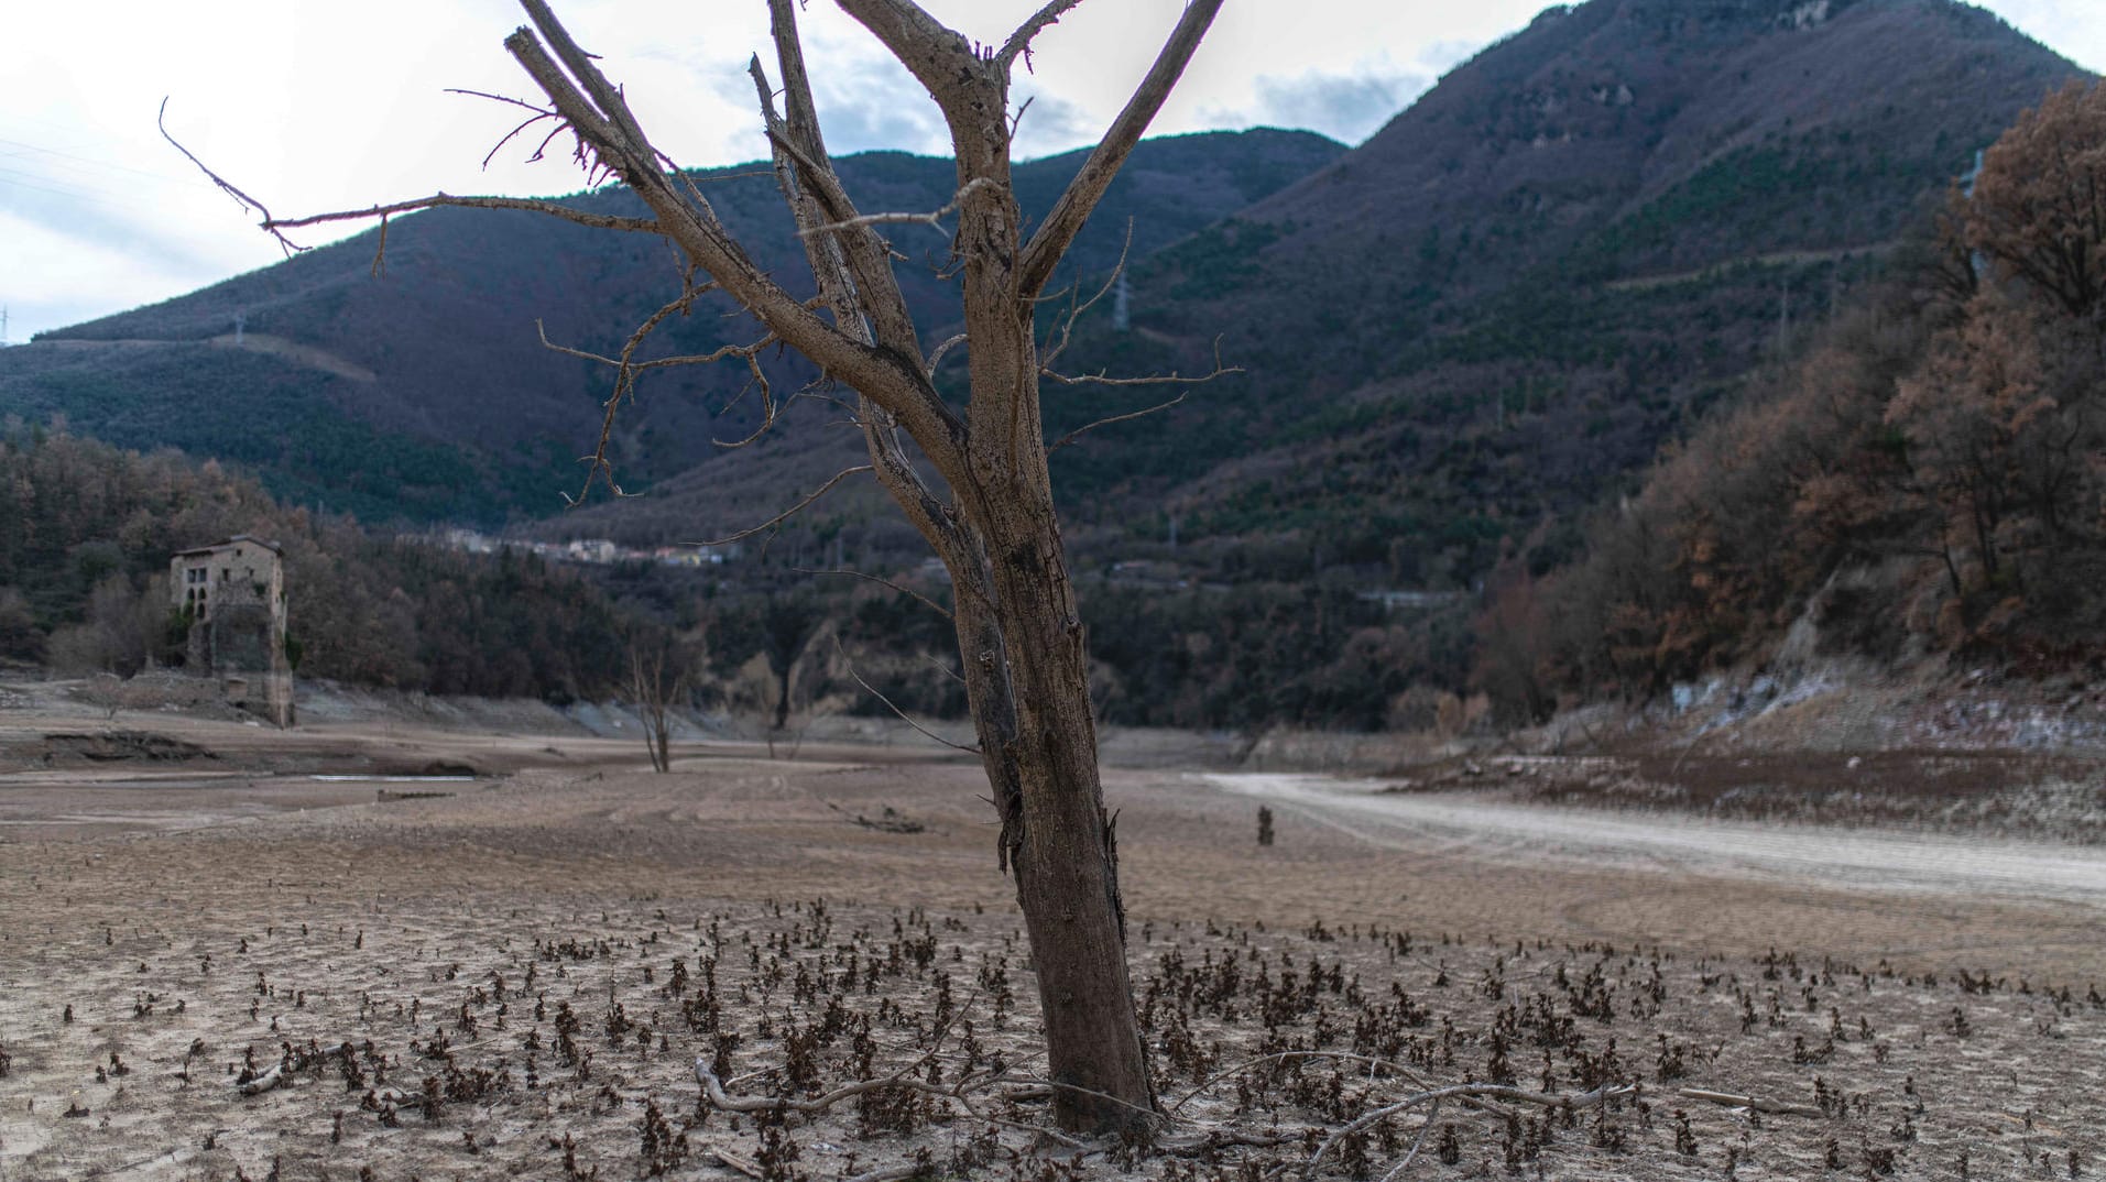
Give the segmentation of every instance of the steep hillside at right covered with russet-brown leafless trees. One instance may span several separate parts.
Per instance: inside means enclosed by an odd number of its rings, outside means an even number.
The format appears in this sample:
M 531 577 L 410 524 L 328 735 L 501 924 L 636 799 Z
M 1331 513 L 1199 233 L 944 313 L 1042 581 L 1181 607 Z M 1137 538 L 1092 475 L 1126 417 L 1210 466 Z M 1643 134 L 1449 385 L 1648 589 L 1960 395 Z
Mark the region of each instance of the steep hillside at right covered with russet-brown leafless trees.
M 1512 573 L 1499 626 L 1590 691 L 1721 664 L 1954 653 L 2106 662 L 2106 88 L 2072 84 L 1761 396 Z

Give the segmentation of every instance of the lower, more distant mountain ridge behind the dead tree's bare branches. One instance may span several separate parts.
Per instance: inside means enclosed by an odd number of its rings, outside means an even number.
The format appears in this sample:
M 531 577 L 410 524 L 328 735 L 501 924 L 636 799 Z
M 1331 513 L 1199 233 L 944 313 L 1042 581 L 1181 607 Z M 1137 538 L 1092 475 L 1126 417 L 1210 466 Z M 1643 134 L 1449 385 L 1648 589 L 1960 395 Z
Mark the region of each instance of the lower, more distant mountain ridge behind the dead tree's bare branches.
M 1141 143 L 1076 242 L 1072 270 L 1110 270 L 1133 228 L 1146 255 L 1327 164 L 1344 147 L 1310 133 L 1249 131 Z M 1017 198 L 1042 213 L 1085 154 L 1019 164 Z M 897 152 L 842 158 L 863 209 L 933 211 L 956 183 L 948 160 Z M 697 173 L 756 261 L 798 287 L 802 247 L 767 164 Z M 636 213 L 623 190 L 569 204 Z M 941 261 L 946 236 L 903 225 L 901 253 Z M 385 242 L 385 253 L 381 253 Z M 931 268 L 903 265 L 927 331 L 956 318 Z M 809 278 L 802 282 L 809 289 Z M 575 489 L 598 436 L 611 371 L 541 348 L 615 354 L 680 291 L 663 242 L 518 211 L 438 209 L 307 251 L 192 295 L 40 335 L 0 352 L 0 407 L 122 447 L 173 445 L 240 461 L 280 497 L 373 518 L 480 520 L 550 514 Z M 743 341 L 752 322 L 699 301 L 640 356 Z M 796 367 L 775 377 L 796 381 Z M 649 487 L 756 426 L 743 367 L 680 369 L 625 411 L 613 455 Z M 729 409 L 727 409 L 729 405 Z

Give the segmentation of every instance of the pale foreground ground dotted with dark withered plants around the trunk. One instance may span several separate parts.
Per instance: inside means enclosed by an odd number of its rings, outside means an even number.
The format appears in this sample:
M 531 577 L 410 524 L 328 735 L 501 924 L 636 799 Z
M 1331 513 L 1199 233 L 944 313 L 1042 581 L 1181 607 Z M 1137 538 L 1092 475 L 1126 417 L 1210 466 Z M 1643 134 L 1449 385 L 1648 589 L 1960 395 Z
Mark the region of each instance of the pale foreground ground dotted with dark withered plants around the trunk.
M 1320 921 L 1131 935 L 1152 1144 L 1051 1129 L 1007 914 L 541 900 L 486 923 L 286 898 L 255 931 L 110 923 L 65 950 L 72 982 L 0 1007 L 0 1171 L 1255 1182 L 2106 1161 L 2095 986 Z

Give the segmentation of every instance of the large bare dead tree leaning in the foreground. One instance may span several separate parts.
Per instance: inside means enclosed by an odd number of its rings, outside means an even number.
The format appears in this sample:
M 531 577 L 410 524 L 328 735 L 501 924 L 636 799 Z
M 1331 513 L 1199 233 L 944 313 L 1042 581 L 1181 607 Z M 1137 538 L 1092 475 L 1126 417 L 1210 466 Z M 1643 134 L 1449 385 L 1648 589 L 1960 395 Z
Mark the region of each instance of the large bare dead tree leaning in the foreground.
M 440 204 L 529 209 L 604 230 L 659 234 L 708 276 L 710 287 L 741 303 L 767 329 L 760 343 L 722 350 L 720 356 L 754 365 L 760 348 L 783 343 L 813 360 L 826 379 L 855 392 L 853 413 L 870 451 L 868 472 L 950 571 L 952 626 L 981 763 L 1000 811 L 996 860 L 1015 876 L 1038 969 L 1055 1119 L 1070 1129 L 1148 1127 L 1156 1119 L 1154 1087 L 1127 973 L 1118 855 L 1097 780 L 1082 622 L 1053 512 L 1049 445 L 1038 407 L 1040 379 L 1072 383 L 1087 377 L 1047 369 L 1034 312 L 1061 255 L 1184 74 L 1221 0 L 1190 0 L 1135 93 L 1028 238 L 1011 188 L 1011 70 L 1026 59 L 1032 40 L 1080 0 L 1049 0 L 1000 46 L 967 40 L 912 0 L 836 2 L 914 74 L 950 126 L 958 190 L 939 213 L 956 217 L 952 265 L 965 299 L 965 335 L 933 352 L 918 339 L 893 276 L 895 255 L 878 225 L 927 225 L 937 215 L 863 215 L 842 190 L 813 107 L 796 0 L 767 0 L 781 112 L 758 57 L 752 74 L 775 173 L 817 278 L 813 301 L 790 295 L 754 265 L 699 188 L 651 145 L 621 88 L 579 48 L 543 0 L 520 0 L 531 27 L 522 25 L 505 38 L 505 48 L 550 103 L 533 107 L 539 114 L 522 129 L 548 118 L 571 131 L 588 171 L 625 181 L 649 206 L 649 219 L 594 215 L 541 200 L 446 194 L 278 219 L 217 175 L 213 179 L 255 206 L 263 228 L 280 238 L 297 225 L 354 217 L 379 217 L 385 232 L 388 215 Z M 699 289 L 684 287 L 680 299 L 651 324 L 687 310 Z M 630 350 L 638 337 L 630 339 Z M 1047 354 L 1057 354 L 1059 343 L 1053 341 Z M 971 377 L 962 413 L 933 383 L 937 358 L 956 346 L 967 350 Z M 625 352 L 617 365 L 621 379 L 609 415 L 640 369 L 663 362 L 630 365 Z M 773 413 L 764 417 L 773 419 Z M 910 447 L 941 478 L 948 497 L 922 478 Z M 604 436 L 592 461 L 596 472 L 607 470 Z

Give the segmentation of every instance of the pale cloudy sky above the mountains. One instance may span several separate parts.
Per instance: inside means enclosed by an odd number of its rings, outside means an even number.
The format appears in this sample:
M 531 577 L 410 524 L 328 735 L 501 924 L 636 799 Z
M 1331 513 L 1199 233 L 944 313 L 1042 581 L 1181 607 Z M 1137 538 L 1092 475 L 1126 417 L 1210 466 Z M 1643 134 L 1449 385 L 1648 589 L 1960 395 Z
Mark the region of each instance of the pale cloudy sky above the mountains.
M 922 0 L 1000 42 L 1040 0 Z M 1523 27 L 1542 0 L 1228 0 L 1156 133 L 1306 126 L 1358 143 L 1445 70 Z M 1988 8 L 2079 65 L 2106 65 L 2095 0 Z M 628 88 L 682 164 L 767 152 L 746 57 L 760 0 L 558 0 L 577 40 Z M 1095 139 L 1175 23 L 1177 0 L 1087 0 L 1038 38 L 1019 156 Z M 518 143 L 480 169 L 524 95 L 501 40 L 510 0 L 29 0 L 0 15 L 0 306 L 6 339 L 74 324 L 278 261 L 156 126 L 280 217 L 453 194 L 560 194 L 569 158 Z M 802 17 L 828 147 L 943 152 L 941 120 L 903 70 L 826 0 Z M 773 74 L 773 70 L 771 70 Z M 322 238 L 316 238 L 322 240 Z

